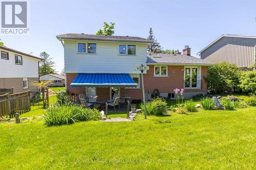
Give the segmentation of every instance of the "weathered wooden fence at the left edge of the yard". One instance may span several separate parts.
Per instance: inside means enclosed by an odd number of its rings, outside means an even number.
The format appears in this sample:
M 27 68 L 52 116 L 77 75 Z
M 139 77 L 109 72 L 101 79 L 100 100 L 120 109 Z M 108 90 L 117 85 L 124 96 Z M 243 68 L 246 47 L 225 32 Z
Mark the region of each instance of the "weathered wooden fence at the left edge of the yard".
M 9 115 L 14 117 L 15 113 L 23 114 L 30 111 L 30 91 L 0 95 L 0 116 Z

